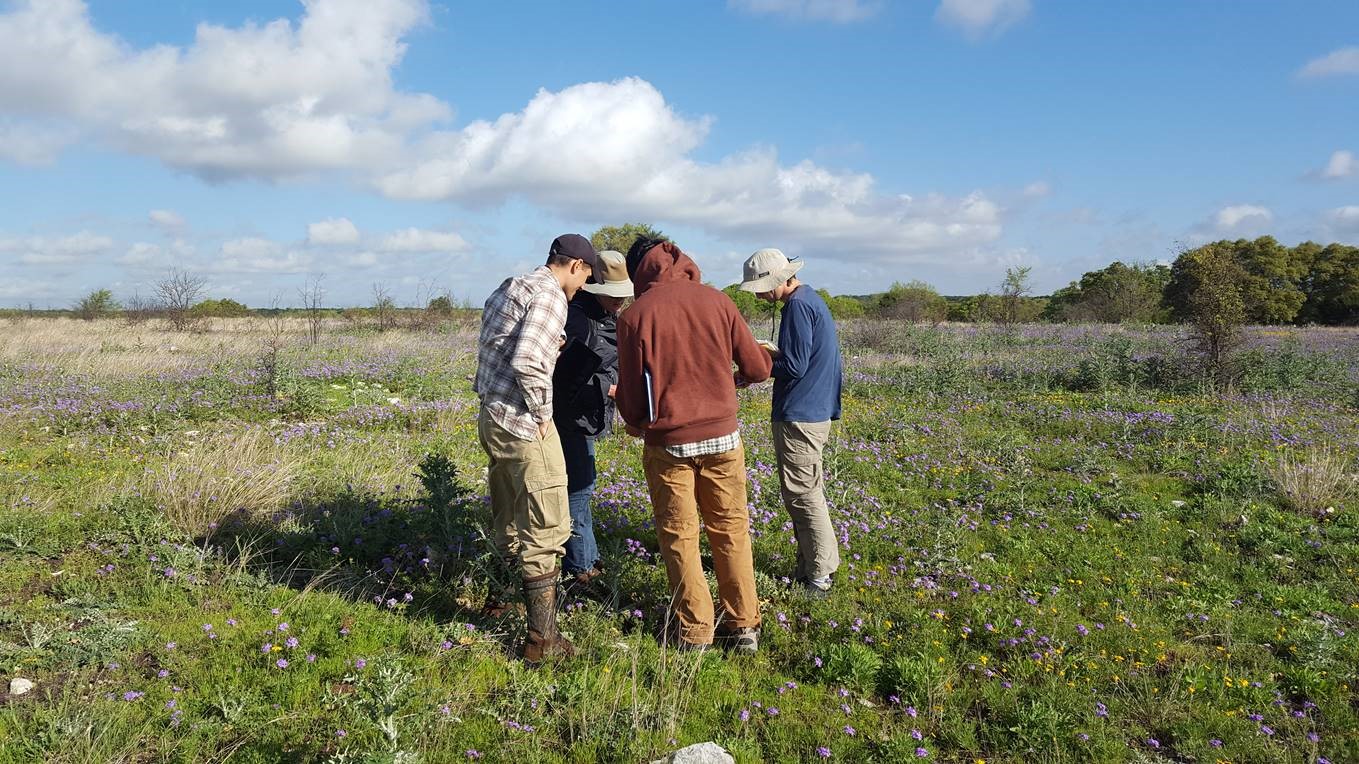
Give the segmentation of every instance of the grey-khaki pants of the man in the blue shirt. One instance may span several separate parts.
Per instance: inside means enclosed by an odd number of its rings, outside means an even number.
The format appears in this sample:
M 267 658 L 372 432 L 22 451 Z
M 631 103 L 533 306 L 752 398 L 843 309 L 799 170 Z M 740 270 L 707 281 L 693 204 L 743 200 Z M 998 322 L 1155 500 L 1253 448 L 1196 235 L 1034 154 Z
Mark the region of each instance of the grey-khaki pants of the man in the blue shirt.
M 813 580 L 840 568 L 840 545 L 830 526 L 821 451 L 830 438 L 829 421 L 773 421 L 773 454 L 779 462 L 779 492 L 798 540 L 795 578 Z

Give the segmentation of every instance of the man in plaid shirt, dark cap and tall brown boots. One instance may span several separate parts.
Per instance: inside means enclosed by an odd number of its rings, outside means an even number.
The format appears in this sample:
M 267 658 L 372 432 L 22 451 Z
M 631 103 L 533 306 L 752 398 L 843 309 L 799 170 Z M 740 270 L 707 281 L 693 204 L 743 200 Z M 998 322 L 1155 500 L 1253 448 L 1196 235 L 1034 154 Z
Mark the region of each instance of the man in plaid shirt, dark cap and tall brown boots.
M 477 439 L 487 453 L 487 483 L 495 545 L 508 568 L 523 576 L 527 638 L 523 659 L 573 655 L 557 631 L 557 578 L 571 536 L 567 464 L 552 424 L 552 371 L 567 324 L 567 300 L 598 262 L 590 241 L 564 234 L 548 262 L 506 279 L 481 311 L 481 338 L 473 389 L 481 398 Z M 492 585 L 485 612 L 503 614 L 503 594 Z

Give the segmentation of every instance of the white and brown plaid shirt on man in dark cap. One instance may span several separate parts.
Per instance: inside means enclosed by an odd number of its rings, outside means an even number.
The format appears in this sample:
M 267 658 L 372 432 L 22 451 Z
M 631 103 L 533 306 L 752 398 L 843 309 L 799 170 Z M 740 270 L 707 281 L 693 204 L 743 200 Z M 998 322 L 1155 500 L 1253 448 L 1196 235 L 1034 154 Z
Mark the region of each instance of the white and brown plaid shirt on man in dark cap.
M 477 381 L 491 419 L 525 440 L 552 419 L 552 371 L 557 364 L 567 295 L 546 265 L 506 279 L 481 311 Z

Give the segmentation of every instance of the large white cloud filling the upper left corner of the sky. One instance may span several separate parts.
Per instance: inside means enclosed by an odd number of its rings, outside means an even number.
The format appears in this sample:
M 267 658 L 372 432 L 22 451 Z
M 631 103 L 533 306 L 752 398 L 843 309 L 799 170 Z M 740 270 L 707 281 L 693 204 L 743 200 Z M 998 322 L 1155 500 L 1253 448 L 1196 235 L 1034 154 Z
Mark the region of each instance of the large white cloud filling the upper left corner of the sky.
M 450 117 L 391 83 L 425 0 L 304 7 L 296 24 L 204 23 L 186 48 L 136 49 L 96 30 L 80 0 L 18 0 L 0 14 L 0 110 L 208 178 L 381 166 Z

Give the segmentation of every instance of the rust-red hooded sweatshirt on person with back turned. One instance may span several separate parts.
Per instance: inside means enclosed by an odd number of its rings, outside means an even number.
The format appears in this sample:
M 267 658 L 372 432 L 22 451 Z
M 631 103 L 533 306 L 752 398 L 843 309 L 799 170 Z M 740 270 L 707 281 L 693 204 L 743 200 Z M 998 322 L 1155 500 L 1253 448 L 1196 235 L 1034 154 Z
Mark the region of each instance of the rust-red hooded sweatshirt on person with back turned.
M 735 432 L 731 363 L 750 382 L 768 379 L 772 363 L 735 303 L 704 285 L 699 266 L 670 242 L 643 256 L 632 284 L 637 299 L 618 317 L 622 420 L 648 446 Z

